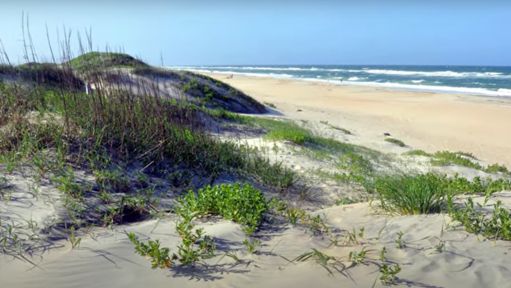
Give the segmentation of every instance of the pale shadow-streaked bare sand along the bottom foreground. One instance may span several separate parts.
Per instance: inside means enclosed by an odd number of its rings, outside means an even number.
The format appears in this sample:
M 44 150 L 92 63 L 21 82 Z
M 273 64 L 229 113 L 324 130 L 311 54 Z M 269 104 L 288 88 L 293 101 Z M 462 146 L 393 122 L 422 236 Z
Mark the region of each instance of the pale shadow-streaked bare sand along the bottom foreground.
M 508 202 L 510 193 L 500 193 L 495 199 Z M 489 204 L 490 205 L 490 204 Z M 96 231 L 95 239 L 83 238 L 79 249 L 66 243 L 42 255 L 38 267 L 19 260 L 0 258 L 2 286 L 42 287 L 370 287 L 379 275 L 380 251 L 386 247 L 388 261 L 400 263 L 399 284 L 412 287 L 506 287 L 511 281 L 507 241 L 481 240 L 473 234 L 452 229 L 448 216 L 417 215 L 387 217 L 369 213 L 367 203 L 344 205 L 317 211 L 327 215 L 334 235 L 343 230 L 364 228 L 359 243 L 328 247 L 328 239 L 312 237 L 302 229 L 283 227 L 261 235 L 264 239 L 259 255 L 248 254 L 242 245 L 244 234 L 239 225 L 226 220 L 203 223 L 218 248 L 237 250 L 240 262 L 229 257 L 207 261 L 207 267 L 196 269 L 151 270 L 148 262 L 134 253 L 125 232 L 135 232 L 141 239 L 158 238 L 163 245 L 175 247 L 180 240 L 172 233 L 170 220 L 146 221 L 142 224 L 116 227 L 115 231 Z M 156 228 L 155 228 L 156 227 Z M 380 232 L 381 230 L 381 232 Z M 403 232 L 403 248 L 398 249 L 397 235 Z M 381 234 L 380 234 L 381 233 Z M 445 250 L 436 252 L 440 240 Z M 342 240 L 340 240 L 342 242 Z M 310 249 L 343 259 L 344 264 L 322 266 L 313 262 L 289 263 Z M 359 265 L 345 258 L 352 251 L 365 249 L 366 260 Z M 221 254 L 221 252 L 219 252 Z M 21 274 L 22 273 L 22 274 Z M 22 275 L 22 276 L 21 276 Z M 16 277 L 13 277 L 16 276 Z M 380 281 L 376 287 L 380 287 Z

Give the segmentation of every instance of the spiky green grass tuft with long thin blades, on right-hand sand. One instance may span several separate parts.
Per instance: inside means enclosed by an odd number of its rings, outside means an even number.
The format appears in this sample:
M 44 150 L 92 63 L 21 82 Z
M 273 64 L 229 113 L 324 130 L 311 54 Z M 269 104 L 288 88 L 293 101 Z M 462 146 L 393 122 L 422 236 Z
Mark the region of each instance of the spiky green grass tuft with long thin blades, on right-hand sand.
M 442 211 L 447 203 L 444 178 L 433 173 L 377 176 L 373 188 L 379 208 L 401 215 Z

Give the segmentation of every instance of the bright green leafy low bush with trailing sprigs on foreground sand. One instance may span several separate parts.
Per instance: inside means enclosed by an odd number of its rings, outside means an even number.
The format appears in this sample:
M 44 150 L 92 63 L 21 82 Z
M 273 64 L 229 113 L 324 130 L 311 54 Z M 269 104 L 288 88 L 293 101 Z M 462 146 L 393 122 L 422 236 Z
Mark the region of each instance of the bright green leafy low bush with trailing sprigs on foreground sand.
M 261 243 L 260 240 L 249 237 L 264 220 L 268 203 L 260 190 L 248 184 L 205 186 L 197 193 L 189 191 L 178 199 L 178 203 L 179 205 L 174 207 L 179 216 L 175 230 L 182 240 L 177 247 L 177 253 L 169 255 L 170 249 L 160 248 L 158 242 L 150 240 L 143 243 L 138 241 L 133 233 L 128 234 L 136 252 L 152 259 L 152 268 L 170 267 L 173 260 L 178 260 L 182 265 L 194 265 L 198 261 L 215 257 L 213 238 L 204 235 L 202 228 L 194 230 L 194 218 L 207 214 L 220 215 L 243 225 L 247 236 L 244 244 L 251 253 L 255 252 L 254 249 Z

